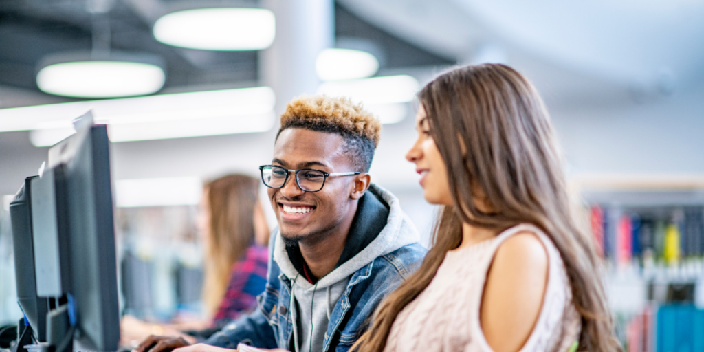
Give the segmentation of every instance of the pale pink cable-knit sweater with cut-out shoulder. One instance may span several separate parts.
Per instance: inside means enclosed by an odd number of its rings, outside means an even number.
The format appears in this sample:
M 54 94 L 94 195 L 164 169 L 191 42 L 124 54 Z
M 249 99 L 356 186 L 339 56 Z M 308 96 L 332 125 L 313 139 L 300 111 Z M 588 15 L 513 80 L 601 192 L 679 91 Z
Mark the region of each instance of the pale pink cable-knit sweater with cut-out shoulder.
M 492 351 L 479 322 L 486 274 L 498 246 L 526 231 L 542 241 L 549 265 L 538 321 L 520 351 L 567 351 L 579 339 L 581 319 L 572 303 L 560 252 L 546 234 L 529 224 L 517 225 L 465 249 L 449 251 L 428 287 L 396 317 L 384 351 Z

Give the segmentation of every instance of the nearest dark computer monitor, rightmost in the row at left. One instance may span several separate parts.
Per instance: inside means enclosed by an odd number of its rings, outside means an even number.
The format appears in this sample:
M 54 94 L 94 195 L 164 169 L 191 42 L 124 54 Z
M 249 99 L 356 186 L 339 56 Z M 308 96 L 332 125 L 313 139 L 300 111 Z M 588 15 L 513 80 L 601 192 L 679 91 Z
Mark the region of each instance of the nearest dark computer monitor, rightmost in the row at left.
M 79 332 L 75 340 L 87 350 L 115 351 L 120 315 L 106 125 L 82 129 L 52 147 L 51 164 L 61 168 L 63 178 L 57 197 L 68 220 L 68 291 L 75 301 Z

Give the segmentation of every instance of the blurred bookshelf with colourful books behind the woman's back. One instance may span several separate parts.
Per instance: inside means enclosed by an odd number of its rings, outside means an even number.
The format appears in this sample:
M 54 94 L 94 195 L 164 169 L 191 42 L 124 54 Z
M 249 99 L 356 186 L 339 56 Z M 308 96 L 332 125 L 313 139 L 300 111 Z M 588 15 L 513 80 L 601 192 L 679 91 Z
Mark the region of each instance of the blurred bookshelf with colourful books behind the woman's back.
M 628 352 L 704 351 L 704 175 L 574 177 Z

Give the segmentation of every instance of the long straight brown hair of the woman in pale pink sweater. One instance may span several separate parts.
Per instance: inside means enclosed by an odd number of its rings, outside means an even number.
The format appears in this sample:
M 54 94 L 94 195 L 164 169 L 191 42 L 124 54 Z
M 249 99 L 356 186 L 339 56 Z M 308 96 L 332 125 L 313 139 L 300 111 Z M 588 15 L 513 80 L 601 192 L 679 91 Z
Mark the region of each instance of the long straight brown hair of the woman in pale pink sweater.
M 384 350 L 398 313 L 428 286 L 445 254 L 460 245 L 463 222 L 494 229 L 527 222 L 550 237 L 565 263 L 582 316 L 579 351 L 620 351 L 601 263 L 570 201 L 550 118 L 532 84 L 506 65 L 472 65 L 440 75 L 419 100 L 447 167 L 454 206 L 441 210 L 420 269 L 379 305 L 353 348 Z M 477 190 L 492 213 L 477 208 Z

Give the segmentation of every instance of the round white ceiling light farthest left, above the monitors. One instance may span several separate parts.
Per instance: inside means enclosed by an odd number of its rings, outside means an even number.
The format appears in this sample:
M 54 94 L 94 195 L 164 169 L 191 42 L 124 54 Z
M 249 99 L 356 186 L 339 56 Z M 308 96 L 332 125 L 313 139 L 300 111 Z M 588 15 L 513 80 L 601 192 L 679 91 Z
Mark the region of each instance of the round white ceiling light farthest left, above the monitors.
M 119 54 L 101 59 L 84 55 L 61 55 L 42 65 L 37 86 L 42 92 L 77 98 L 116 98 L 158 92 L 166 75 L 161 65 L 132 60 L 138 55 Z M 56 60 L 56 58 L 59 58 Z

